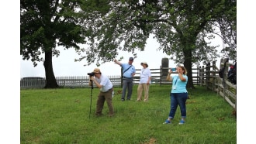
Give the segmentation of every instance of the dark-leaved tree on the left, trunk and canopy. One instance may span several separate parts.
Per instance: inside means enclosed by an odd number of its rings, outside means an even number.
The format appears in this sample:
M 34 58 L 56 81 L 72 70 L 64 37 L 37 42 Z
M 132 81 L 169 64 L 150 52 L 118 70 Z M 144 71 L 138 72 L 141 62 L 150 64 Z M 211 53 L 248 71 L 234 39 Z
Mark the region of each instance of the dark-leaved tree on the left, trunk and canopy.
M 59 56 L 57 46 L 80 49 L 85 43 L 81 26 L 82 0 L 21 0 L 20 1 L 20 54 L 23 60 L 32 60 L 34 67 L 43 61 L 46 88 L 58 87 L 54 76 L 52 57 Z M 40 57 L 44 53 L 44 58 Z

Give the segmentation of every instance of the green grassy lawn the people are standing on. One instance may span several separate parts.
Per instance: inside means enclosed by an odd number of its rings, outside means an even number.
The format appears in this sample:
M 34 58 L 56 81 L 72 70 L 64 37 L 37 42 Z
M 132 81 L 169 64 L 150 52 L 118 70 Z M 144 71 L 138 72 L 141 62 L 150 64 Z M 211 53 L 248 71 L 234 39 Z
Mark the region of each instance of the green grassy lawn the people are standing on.
M 115 87 L 114 117 L 95 117 L 99 89 L 20 90 L 20 143 L 237 143 L 233 108 L 205 87 L 189 90 L 185 125 L 179 108 L 171 125 L 162 123 L 170 109 L 170 85 L 150 85 L 148 102 L 120 101 Z M 92 111 L 90 114 L 92 90 Z

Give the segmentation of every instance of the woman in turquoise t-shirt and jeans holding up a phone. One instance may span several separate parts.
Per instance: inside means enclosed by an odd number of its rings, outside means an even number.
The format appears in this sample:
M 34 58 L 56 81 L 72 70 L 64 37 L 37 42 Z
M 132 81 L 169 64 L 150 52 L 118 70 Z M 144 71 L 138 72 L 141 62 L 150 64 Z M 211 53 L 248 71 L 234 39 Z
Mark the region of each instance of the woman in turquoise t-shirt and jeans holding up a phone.
M 168 76 L 166 77 L 167 81 L 172 81 L 172 87 L 170 92 L 171 110 L 164 124 L 171 124 L 171 120 L 175 118 L 175 112 L 179 105 L 182 119 L 178 124 L 182 125 L 185 123 L 185 118 L 186 118 L 185 101 L 188 98 L 188 91 L 186 89 L 186 84 L 188 83 L 188 76 L 186 75 L 187 70 L 185 69 L 185 67 L 178 65 L 178 67 L 176 67 L 176 72 L 178 73 L 178 75 L 171 76 L 171 72 L 172 71 L 170 70 Z

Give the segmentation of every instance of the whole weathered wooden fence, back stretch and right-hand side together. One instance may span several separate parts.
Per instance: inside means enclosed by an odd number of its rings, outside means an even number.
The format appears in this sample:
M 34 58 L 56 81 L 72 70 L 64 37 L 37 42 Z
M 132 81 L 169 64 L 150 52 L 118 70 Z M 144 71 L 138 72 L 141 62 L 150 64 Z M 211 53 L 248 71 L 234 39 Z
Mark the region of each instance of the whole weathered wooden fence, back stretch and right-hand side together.
M 220 68 L 223 67 L 223 62 L 227 59 L 220 60 Z M 193 84 L 205 86 L 211 91 L 220 94 L 235 110 L 237 109 L 237 87 L 227 81 L 229 63 L 225 70 L 224 78 L 219 77 L 219 69 L 216 67 L 216 62 L 206 63 L 206 67 L 192 68 Z M 166 81 L 169 67 L 160 67 L 159 69 L 150 69 L 152 84 L 171 84 L 171 81 Z M 140 69 L 133 78 L 133 84 L 138 84 L 140 81 Z M 121 71 L 120 71 L 121 74 Z M 122 87 L 123 80 L 120 76 L 108 76 L 114 87 Z M 77 77 L 56 77 L 57 84 L 60 87 L 90 87 L 88 85 L 88 76 Z M 43 88 L 46 84 L 44 77 L 23 77 L 20 80 L 20 88 Z

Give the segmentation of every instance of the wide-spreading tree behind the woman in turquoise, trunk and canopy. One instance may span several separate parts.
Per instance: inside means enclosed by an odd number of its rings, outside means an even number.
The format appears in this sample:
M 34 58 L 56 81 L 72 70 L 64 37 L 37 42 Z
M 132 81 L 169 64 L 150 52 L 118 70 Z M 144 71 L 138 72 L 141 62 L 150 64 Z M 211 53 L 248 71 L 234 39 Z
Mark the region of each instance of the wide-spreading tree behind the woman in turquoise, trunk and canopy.
M 105 63 L 118 55 L 118 50 L 134 53 L 135 49 L 143 51 L 147 38 L 154 35 L 160 43 L 159 49 L 170 55 L 171 60 L 183 63 L 188 70 L 187 87 L 192 83 L 192 66 L 203 60 L 211 61 L 219 57 L 216 46 L 210 46 L 216 29 L 235 19 L 225 19 L 228 13 L 236 15 L 236 1 L 233 0 L 126 0 L 104 1 L 98 3 L 86 1 L 83 8 L 88 12 L 85 29 L 88 36 L 85 56 L 94 63 Z M 232 5 L 230 5 L 230 3 Z M 227 12 L 229 11 L 229 12 Z M 230 22 L 234 25 L 236 23 Z M 232 27 L 233 31 L 235 27 Z M 221 34 L 230 34 L 227 32 Z M 230 36 L 232 36 L 231 33 Z M 123 46 L 121 44 L 123 43 Z M 228 43 L 228 42 L 227 42 Z M 80 52 L 80 50 L 79 50 Z M 149 57 L 150 58 L 150 57 Z

